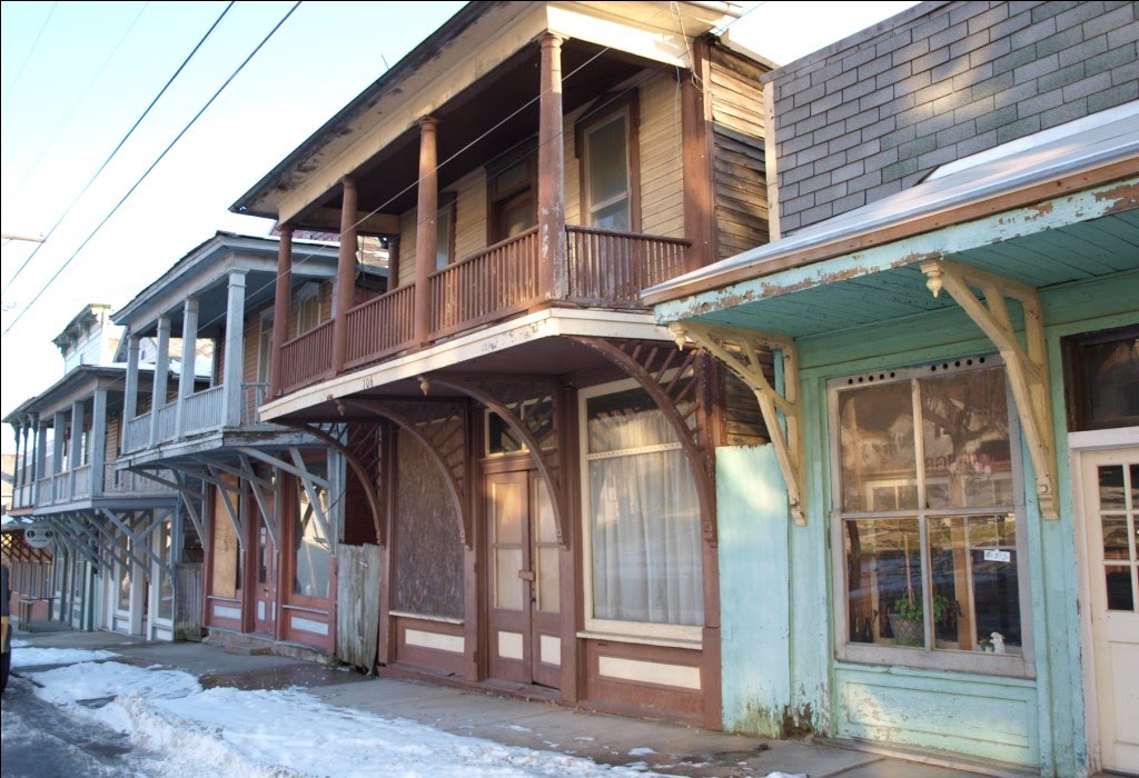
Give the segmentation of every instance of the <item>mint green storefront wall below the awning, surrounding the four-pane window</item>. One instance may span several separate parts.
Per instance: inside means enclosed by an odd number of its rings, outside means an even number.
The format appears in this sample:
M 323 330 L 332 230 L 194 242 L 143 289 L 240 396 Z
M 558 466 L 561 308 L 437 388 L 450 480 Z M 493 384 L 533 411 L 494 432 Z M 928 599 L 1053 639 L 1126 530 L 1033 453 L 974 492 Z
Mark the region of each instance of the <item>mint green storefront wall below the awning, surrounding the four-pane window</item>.
M 1026 570 L 1032 607 L 1034 678 L 1000 678 L 960 672 L 879 668 L 835 662 L 831 635 L 831 574 L 828 548 L 830 507 L 829 431 L 826 382 L 830 378 L 886 367 L 995 351 L 959 309 L 952 308 L 846 330 L 798 341 L 801 394 L 808 462 L 808 523 L 794 527 L 786 510 L 786 557 L 760 527 L 776 524 L 768 507 L 759 510 L 751 489 L 781 477 L 770 452 L 720 449 L 720 574 L 724 624 L 724 726 L 764 731 L 770 712 L 784 700 L 778 630 L 746 627 L 767 607 L 790 623 L 781 652 L 789 661 L 788 723 L 846 738 L 885 740 L 1031 765 L 1044 775 L 1085 772 L 1084 702 L 1071 478 L 1059 338 L 1139 322 L 1139 273 L 1120 273 L 1041 292 L 1049 348 L 1052 409 L 1058 450 L 1060 520 L 1040 518 L 1034 495 L 1024 508 Z M 1032 485 L 1029 457 L 1022 454 L 1024 482 Z M 1031 489 L 1027 490 L 1031 493 Z M 727 497 L 727 498 L 726 498 Z M 724 530 L 728 530 L 726 533 Z M 749 549 L 738 547 L 749 544 Z M 789 576 L 789 602 L 776 585 Z M 763 572 L 757 569 L 764 566 Z M 760 576 L 761 578 L 756 578 Z M 767 591 L 763 609 L 754 602 Z M 1030 614 L 1025 614 L 1029 618 Z M 751 651 L 729 645 L 735 636 L 753 642 Z M 779 661 L 776 661 L 779 660 Z M 773 669 L 773 670 L 772 670 Z M 730 692 L 729 692 L 730 690 Z M 768 718 L 756 719 L 754 711 Z M 751 728 L 749 728 L 751 727 Z

